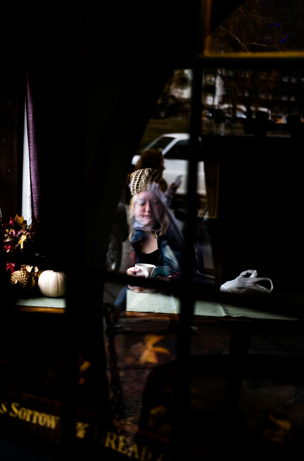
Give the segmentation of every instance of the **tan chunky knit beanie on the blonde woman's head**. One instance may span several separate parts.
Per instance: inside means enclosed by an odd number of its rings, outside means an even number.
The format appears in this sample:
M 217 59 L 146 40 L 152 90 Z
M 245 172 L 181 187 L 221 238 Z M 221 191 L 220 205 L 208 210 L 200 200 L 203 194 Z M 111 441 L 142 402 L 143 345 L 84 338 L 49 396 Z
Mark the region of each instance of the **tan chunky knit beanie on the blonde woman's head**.
M 130 176 L 130 194 L 131 197 L 142 190 L 165 191 L 165 183 L 161 173 L 152 168 L 136 170 Z

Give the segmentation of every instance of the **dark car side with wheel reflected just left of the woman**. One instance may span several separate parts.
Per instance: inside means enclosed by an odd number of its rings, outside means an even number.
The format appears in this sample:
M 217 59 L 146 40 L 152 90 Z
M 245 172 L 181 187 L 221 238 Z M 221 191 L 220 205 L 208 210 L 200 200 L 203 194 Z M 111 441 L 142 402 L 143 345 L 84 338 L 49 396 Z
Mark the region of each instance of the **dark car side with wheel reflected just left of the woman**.
M 112 225 L 111 236 L 106 254 L 106 268 L 117 272 L 121 265 L 123 255 L 123 242 L 128 237 L 128 219 L 123 201 L 119 201 Z

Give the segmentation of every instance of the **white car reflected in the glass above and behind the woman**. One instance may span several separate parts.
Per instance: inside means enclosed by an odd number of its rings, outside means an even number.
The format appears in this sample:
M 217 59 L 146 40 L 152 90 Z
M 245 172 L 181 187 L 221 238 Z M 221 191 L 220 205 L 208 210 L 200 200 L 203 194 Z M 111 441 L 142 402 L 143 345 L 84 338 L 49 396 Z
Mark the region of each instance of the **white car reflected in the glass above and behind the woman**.
M 182 175 L 181 185 L 176 192 L 178 195 L 185 195 L 187 191 L 189 139 L 190 136 L 187 133 L 170 133 L 158 137 L 143 149 L 159 149 L 162 151 L 165 167 L 163 177 L 168 184 L 175 182 L 176 177 Z M 138 155 L 134 155 L 132 165 L 136 165 L 139 158 L 140 153 Z M 206 193 L 203 162 L 199 162 L 198 165 L 197 193 L 201 195 L 205 195 Z

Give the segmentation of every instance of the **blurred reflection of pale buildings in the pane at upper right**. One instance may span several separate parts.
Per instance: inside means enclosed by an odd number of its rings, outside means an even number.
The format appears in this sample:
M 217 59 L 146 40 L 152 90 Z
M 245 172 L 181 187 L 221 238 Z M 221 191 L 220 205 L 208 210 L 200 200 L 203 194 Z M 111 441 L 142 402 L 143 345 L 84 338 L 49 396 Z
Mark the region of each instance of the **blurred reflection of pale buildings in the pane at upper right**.
M 222 109 L 236 115 L 257 110 L 269 112 L 269 117 L 286 123 L 286 116 L 303 115 L 304 78 L 297 71 L 229 70 L 205 72 L 203 80 L 206 108 Z M 239 114 L 240 115 L 240 114 Z

